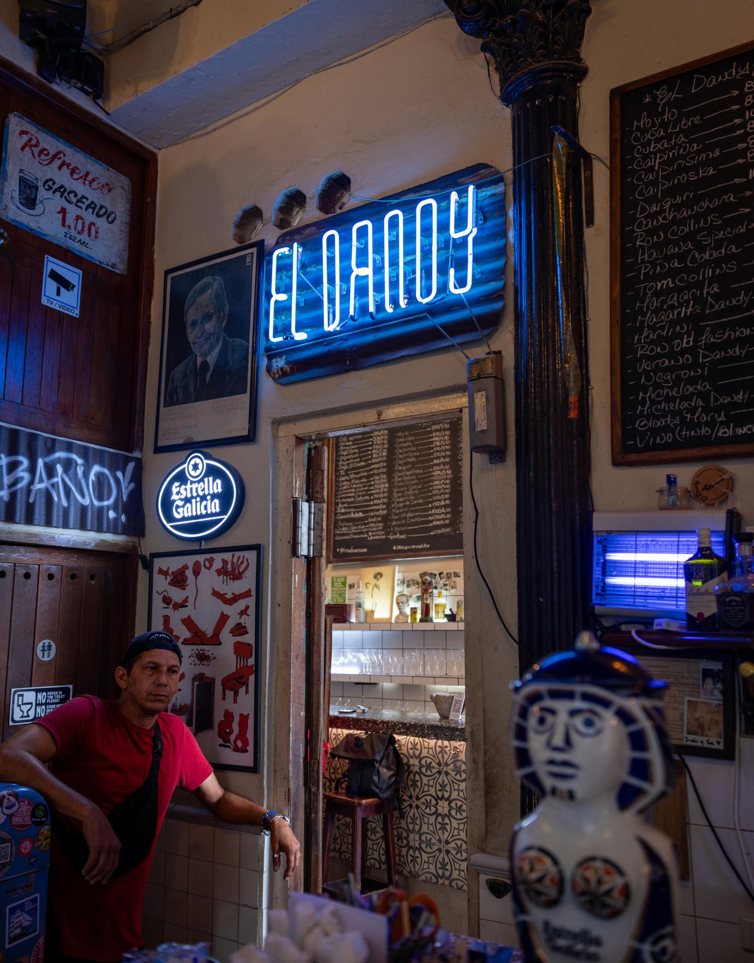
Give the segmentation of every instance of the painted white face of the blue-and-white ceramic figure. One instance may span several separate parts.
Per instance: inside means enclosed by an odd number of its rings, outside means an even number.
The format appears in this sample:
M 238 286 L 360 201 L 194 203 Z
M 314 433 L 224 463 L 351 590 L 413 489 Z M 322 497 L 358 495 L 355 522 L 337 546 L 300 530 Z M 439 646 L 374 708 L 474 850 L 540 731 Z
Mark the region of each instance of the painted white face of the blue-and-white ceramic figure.
M 616 793 L 629 746 L 612 708 L 545 698 L 531 707 L 528 729 L 531 764 L 548 795 L 584 802 Z

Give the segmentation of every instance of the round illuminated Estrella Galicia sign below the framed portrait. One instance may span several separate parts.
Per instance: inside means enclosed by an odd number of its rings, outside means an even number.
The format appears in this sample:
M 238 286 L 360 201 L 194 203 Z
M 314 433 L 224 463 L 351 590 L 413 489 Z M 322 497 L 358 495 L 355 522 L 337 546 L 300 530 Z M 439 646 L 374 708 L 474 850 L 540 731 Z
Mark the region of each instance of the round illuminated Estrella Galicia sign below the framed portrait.
M 160 486 L 157 514 L 176 538 L 216 538 L 236 522 L 244 494 L 232 465 L 206 452 L 190 452 Z

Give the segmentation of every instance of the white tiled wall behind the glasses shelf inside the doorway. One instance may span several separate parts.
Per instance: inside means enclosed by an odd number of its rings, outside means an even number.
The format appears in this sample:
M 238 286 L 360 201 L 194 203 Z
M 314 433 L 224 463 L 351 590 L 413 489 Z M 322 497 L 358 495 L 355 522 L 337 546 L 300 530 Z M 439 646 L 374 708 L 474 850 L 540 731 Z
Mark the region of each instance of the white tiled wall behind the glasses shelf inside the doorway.
M 333 655 L 343 649 L 447 650 L 464 652 L 464 623 L 414 623 L 401 629 L 383 628 L 390 622 L 349 623 L 333 630 Z M 393 623 L 394 624 L 394 623 Z M 441 662 L 441 660 L 440 660 Z M 430 694 L 435 692 L 463 692 L 465 677 L 384 675 L 360 676 L 334 674 L 331 682 L 331 703 L 350 700 L 370 709 L 406 709 L 413 712 L 434 713 Z

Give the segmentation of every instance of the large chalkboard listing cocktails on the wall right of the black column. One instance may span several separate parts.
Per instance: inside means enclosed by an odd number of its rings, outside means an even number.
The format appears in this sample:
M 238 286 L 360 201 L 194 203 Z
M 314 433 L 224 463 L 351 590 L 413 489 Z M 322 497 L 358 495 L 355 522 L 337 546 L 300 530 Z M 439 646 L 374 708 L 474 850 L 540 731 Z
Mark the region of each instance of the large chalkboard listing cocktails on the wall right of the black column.
M 754 43 L 611 91 L 613 461 L 754 454 Z

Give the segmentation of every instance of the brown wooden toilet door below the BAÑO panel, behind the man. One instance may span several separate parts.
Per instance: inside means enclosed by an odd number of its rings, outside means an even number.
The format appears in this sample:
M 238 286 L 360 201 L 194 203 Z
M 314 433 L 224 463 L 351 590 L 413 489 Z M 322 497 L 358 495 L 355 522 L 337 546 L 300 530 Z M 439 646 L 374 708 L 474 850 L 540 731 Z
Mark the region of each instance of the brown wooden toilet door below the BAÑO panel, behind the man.
M 74 695 L 115 694 L 113 671 L 133 632 L 133 556 L 0 545 L 0 719 L 11 692 L 73 686 Z M 55 655 L 38 658 L 50 639 Z

